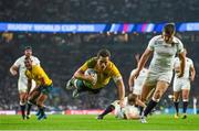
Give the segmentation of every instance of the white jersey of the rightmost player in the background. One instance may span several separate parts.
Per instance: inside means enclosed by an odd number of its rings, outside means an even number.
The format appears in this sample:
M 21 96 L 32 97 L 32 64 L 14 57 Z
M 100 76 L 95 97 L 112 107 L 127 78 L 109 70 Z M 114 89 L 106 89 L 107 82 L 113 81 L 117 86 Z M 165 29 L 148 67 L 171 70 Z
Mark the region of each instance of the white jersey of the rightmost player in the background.
M 185 65 L 184 76 L 180 77 L 180 78 L 189 78 L 190 68 L 192 66 L 193 66 L 193 62 L 190 58 L 186 57 L 186 65 Z M 179 59 L 179 57 L 175 58 L 174 68 L 180 68 L 180 59 Z M 178 78 L 177 73 L 175 73 L 175 77 Z

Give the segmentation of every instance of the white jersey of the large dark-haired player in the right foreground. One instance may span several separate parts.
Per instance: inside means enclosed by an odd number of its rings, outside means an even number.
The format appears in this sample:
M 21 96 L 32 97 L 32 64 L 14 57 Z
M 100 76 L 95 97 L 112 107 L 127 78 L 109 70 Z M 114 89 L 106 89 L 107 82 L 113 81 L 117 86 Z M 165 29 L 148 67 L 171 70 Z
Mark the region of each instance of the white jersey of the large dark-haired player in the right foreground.
M 155 73 L 171 72 L 176 54 L 184 52 L 184 45 L 174 36 L 175 44 L 167 44 L 161 35 L 154 36 L 148 44 L 148 50 L 154 51 L 149 70 Z

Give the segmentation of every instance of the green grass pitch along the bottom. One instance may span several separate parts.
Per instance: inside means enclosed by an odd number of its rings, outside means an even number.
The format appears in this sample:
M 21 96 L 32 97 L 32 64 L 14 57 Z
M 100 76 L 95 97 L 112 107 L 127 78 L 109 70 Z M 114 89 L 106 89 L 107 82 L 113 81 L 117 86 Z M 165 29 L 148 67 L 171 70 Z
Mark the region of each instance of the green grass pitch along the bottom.
M 196 130 L 199 129 L 199 116 L 188 119 L 174 119 L 174 116 L 161 114 L 148 118 L 148 123 L 138 120 L 118 120 L 107 116 L 96 120 L 95 116 L 52 114 L 46 120 L 21 120 L 21 116 L 0 116 L 0 130 Z

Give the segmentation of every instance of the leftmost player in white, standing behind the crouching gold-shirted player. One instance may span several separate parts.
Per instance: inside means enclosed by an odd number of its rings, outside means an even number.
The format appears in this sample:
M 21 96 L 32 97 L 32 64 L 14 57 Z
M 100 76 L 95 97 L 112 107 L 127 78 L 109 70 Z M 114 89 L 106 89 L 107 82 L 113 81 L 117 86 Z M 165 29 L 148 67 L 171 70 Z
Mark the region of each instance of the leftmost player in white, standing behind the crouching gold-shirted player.
M 28 90 L 28 78 L 25 76 L 25 66 L 24 66 L 24 58 L 25 57 L 31 57 L 32 62 L 35 65 L 40 65 L 40 61 L 32 56 L 32 47 L 27 46 L 24 48 L 24 55 L 19 57 L 14 64 L 10 67 L 10 73 L 12 76 L 17 76 L 19 74 L 19 79 L 18 79 L 18 90 L 19 90 L 19 98 L 20 98 L 20 107 L 21 107 L 21 113 L 22 118 L 25 119 L 25 105 L 27 105 L 27 90 Z M 32 83 L 32 87 L 35 87 L 35 83 Z M 29 110 L 29 109 L 28 109 Z M 30 111 L 28 111 L 27 118 L 29 119 Z

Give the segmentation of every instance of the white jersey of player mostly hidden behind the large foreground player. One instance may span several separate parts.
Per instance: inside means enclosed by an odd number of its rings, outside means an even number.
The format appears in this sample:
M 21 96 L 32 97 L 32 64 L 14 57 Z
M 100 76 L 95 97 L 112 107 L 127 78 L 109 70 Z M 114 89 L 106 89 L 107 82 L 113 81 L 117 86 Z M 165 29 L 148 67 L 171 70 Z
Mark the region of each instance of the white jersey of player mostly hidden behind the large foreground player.
M 133 69 L 130 73 L 130 77 L 135 74 L 136 69 Z M 143 86 L 143 83 L 147 76 L 148 69 L 143 68 L 139 73 L 139 76 L 134 80 L 134 87 L 140 87 Z

